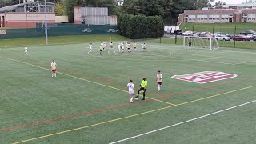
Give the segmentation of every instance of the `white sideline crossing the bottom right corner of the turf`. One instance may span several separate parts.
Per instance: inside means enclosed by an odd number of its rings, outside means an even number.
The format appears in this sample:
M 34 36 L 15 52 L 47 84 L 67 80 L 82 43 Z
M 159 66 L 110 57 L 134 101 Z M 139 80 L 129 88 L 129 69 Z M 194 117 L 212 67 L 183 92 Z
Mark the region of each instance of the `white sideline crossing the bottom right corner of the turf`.
M 231 110 L 231 109 L 234 109 L 234 108 L 237 108 L 237 107 L 240 107 L 240 106 L 245 106 L 245 105 L 248 105 L 248 104 L 253 103 L 253 102 L 256 102 L 256 100 L 250 101 L 250 102 L 246 102 L 246 103 L 243 103 L 243 104 L 238 105 L 238 106 L 232 106 L 232 107 L 224 109 L 224 110 L 219 110 L 219 111 L 216 111 L 216 112 L 211 113 L 211 114 L 206 114 L 206 115 L 203 115 L 203 116 L 198 117 L 198 118 L 193 118 L 193 119 L 190 119 L 190 120 L 187 120 L 187 121 L 184 121 L 184 122 L 179 122 L 179 123 L 176 123 L 174 125 L 162 127 L 161 129 L 158 129 L 158 130 L 152 130 L 152 131 L 146 132 L 144 134 L 138 134 L 138 135 L 130 137 L 130 138 L 125 138 L 125 139 L 122 139 L 122 140 L 119 140 L 119 141 L 116 141 L 116 142 L 110 142 L 110 144 L 124 142 L 124 141 L 130 140 L 130 139 L 133 139 L 133 138 L 141 137 L 141 136 L 146 135 L 146 134 L 151 134 L 151 133 L 154 133 L 154 132 L 157 132 L 157 131 L 160 131 L 160 130 L 165 130 L 165 129 L 170 128 L 170 127 L 179 126 L 179 125 L 182 125 L 182 124 L 187 123 L 187 122 L 192 122 L 192 121 L 198 120 L 200 118 L 206 118 L 206 117 L 208 117 L 210 115 L 218 114 L 218 113 L 224 112 L 226 110 Z

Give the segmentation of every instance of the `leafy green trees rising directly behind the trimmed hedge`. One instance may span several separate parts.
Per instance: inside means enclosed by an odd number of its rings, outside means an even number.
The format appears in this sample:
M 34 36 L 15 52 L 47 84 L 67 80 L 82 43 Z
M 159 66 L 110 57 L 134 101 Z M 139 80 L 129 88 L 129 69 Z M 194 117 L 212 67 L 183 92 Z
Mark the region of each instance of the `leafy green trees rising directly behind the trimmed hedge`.
M 134 15 L 160 15 L 165 22 L 176 22 L 183 10 L 210 7 L 210 2 L 214 0 L 125 0 L 122 10 L 123 13 Z

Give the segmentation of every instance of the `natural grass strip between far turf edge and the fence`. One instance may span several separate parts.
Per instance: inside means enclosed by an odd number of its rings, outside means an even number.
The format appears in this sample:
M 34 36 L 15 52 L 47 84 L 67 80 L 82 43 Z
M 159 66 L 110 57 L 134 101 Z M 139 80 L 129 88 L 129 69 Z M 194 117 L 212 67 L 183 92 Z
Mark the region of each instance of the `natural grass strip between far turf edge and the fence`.
M 120 35 L 71 35 L 71 36 L 61 36 L 61 37 L 49 37 L 49 45 L 58 45 L 58 44 L 70 44 L 70 43 L 86 43 L 86 42 L 110 42 L 110 38 L 112 41 L 126 41 L 129 39 L 122 37 Z M 132 40 L 130 40 L 132 41 Z M 136 40 L 139 42 L 144 42 L 145 39 Z M 159 43 L 159 38 L 149 38 L 146 39 L 146 42 L 154 42 Z M 162 43 L 165 44 L 175 44 L 174 38 L 162 38 Z M 43 37 L 40 38 L 16 38 L 16 39 L 0 39 L 0 47 L 13 47 L 13 46 L 38 46 L 45 45 L 46 39 Z M 178 45 L 183 45 L 183 38 L 177 39 Z M 234 47 L 234 42 L 222 42 L 218 41 L 219 46 L 221 47 Z M 256 48 L 256 42 L 236 42 L 237 48 L 248 48 L 254 49 Z

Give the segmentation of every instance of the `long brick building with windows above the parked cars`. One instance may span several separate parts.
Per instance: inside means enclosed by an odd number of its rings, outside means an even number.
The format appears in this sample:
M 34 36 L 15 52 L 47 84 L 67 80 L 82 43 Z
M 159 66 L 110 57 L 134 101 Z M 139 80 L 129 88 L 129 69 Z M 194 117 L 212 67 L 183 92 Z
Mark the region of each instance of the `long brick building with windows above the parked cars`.
M 184 10 L 179 14 L 178 24 L 182 22 L 224 23 L 224 22 L 254 22 L 256 23 L 256 3 L 237 6 L 215 6 L 210 10 Z M 222 9 L 220 9 L 222 8 Z

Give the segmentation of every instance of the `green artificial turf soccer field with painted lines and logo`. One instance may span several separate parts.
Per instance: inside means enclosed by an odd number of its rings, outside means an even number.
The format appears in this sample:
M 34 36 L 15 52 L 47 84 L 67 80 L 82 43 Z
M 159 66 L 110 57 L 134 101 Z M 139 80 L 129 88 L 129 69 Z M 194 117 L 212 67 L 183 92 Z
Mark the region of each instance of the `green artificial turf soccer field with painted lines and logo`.
M 117 43 L 102 56 L 99 43 L 1 49 L 0 143 L 256 142 L 256 50 Z M 146 100 L 130 103 L 143 77 Z

